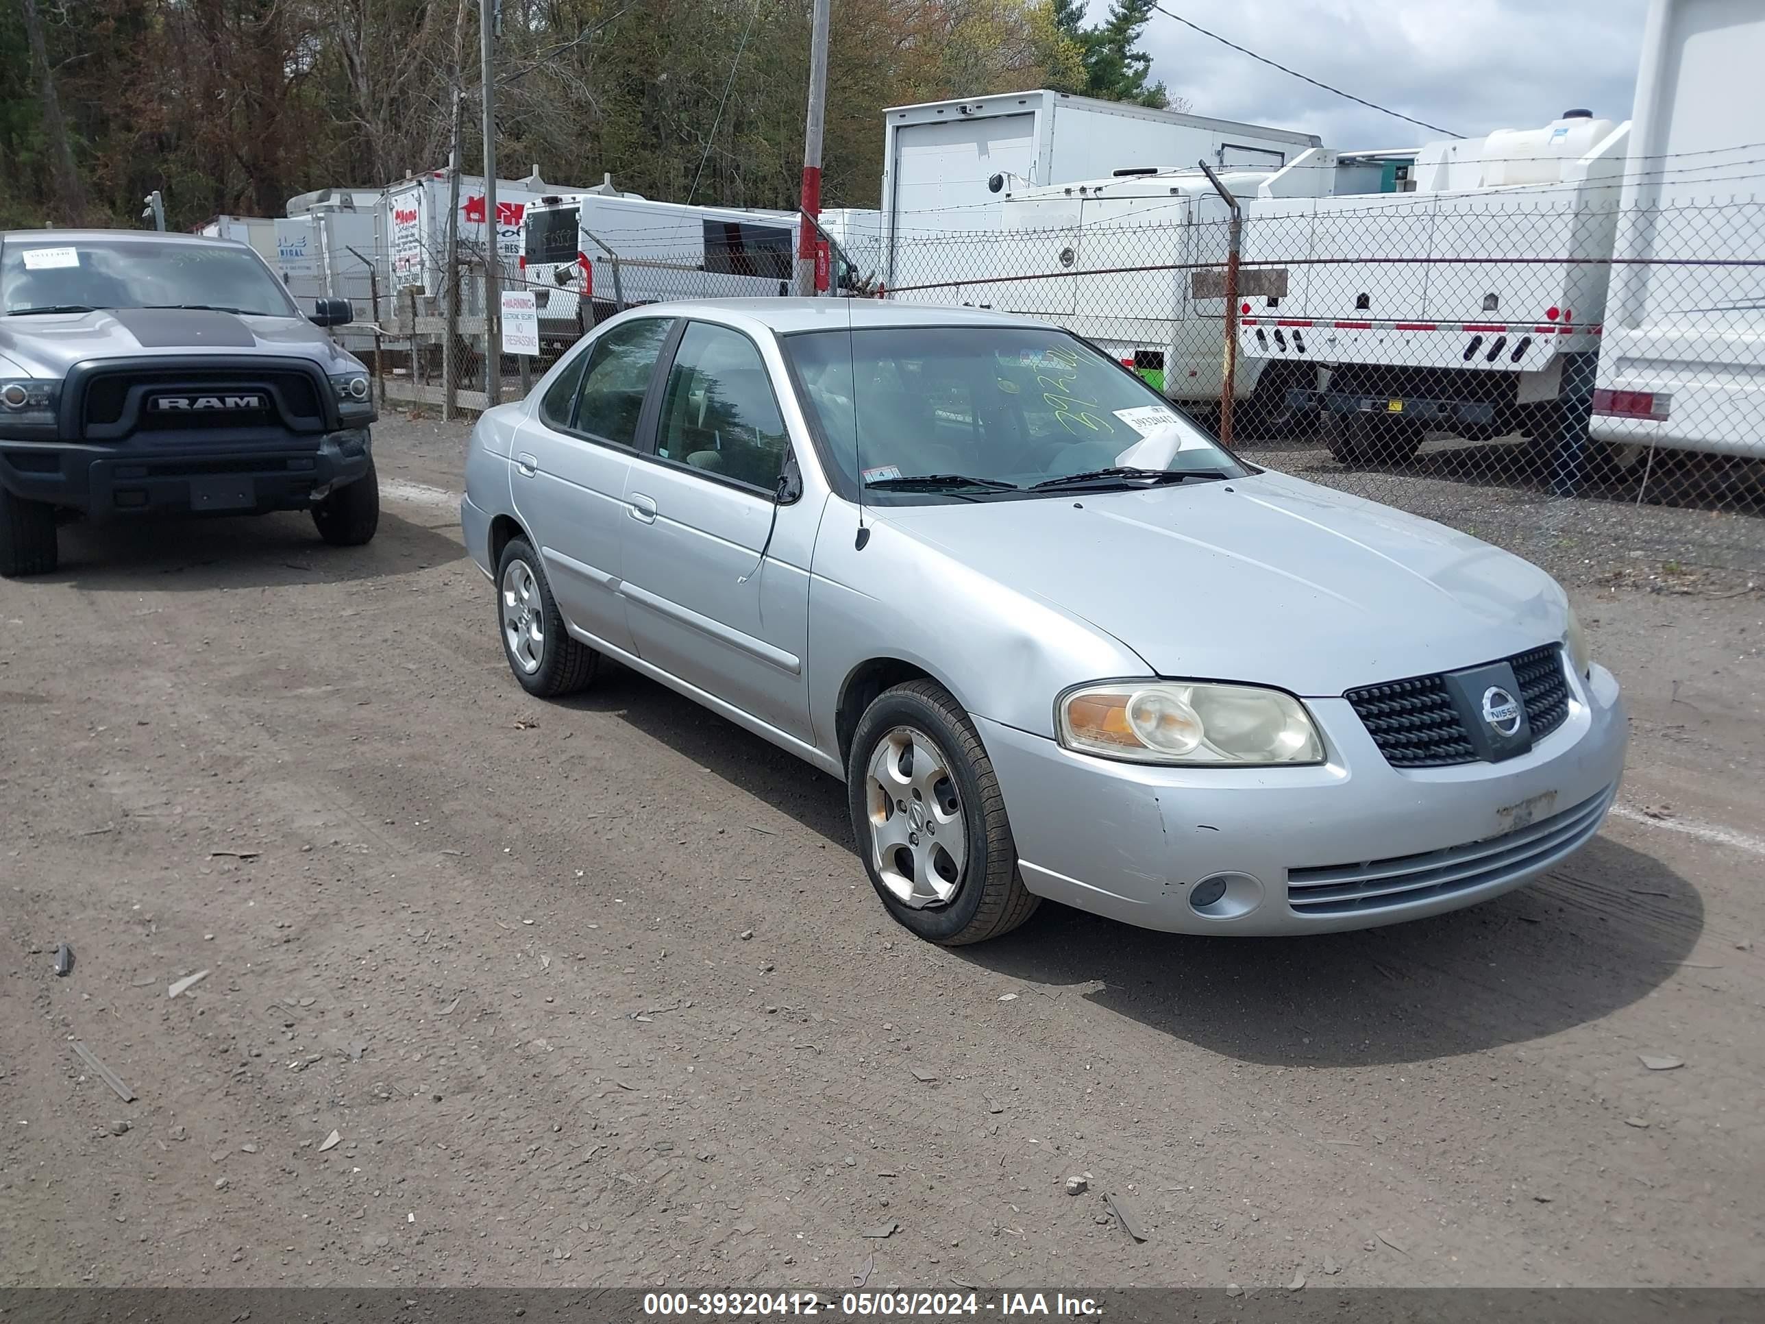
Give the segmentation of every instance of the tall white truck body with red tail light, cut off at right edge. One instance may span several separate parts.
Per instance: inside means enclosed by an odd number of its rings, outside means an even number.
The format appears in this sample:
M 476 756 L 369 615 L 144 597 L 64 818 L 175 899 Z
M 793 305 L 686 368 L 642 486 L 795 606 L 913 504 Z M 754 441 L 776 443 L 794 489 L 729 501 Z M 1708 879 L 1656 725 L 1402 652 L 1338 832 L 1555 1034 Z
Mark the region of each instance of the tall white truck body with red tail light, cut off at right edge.
M 1765 97 L 1746 88 L 1761 67 L 1758 0 L 1650 4 L 1594 392 L 1599 441 L 1765 457 L 1758 208 L 1714 210 L 1760 198 Z

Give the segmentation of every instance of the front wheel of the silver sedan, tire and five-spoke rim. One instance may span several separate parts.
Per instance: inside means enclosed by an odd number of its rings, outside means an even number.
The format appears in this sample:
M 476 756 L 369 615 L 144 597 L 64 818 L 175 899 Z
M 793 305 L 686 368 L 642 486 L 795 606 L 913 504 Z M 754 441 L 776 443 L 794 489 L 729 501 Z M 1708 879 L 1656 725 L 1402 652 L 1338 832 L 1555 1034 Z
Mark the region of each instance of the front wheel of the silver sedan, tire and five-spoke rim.
M 888 789 L 879 771 L 891 779 Z M 962 946 L 1008 934 L 1036 913 L 1041 899 L 1017 872 L 992 759 L 969 715 L 935 681 L 897 685 L 865 710 L 845 789 L 870 886 L 904 929 Z M 946 849 L 957 831 L 960 861 Z

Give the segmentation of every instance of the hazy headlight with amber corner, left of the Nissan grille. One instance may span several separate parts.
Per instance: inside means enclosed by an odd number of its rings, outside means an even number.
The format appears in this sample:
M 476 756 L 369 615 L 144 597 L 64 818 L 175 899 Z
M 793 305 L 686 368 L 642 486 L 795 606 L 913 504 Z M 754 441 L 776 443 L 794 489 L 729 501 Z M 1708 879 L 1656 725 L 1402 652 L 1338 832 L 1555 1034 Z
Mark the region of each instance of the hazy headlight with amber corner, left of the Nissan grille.
M 1299 699 L 1255 685 L 1085 685 L 1061 696 L 1055 729 L 1066 749 L 1130 763 L 1324 761 Z

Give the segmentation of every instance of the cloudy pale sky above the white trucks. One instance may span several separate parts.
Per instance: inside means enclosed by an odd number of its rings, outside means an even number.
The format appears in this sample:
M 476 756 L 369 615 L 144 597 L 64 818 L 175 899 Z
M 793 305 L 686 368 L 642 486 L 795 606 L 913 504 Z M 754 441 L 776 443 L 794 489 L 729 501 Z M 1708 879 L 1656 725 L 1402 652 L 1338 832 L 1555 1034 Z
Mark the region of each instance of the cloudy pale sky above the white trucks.
M 1647 0 L 1161 0 L 1290 69 L 1460 134 L 1548 124 L 1569 106 L 1627 120 Z M 1108 0 L 1091 0 L 1093 21 Z M 1343 101 L 1153 14 L 1153 74 L 1195 115 L 1408 147 L 1440 134 Z

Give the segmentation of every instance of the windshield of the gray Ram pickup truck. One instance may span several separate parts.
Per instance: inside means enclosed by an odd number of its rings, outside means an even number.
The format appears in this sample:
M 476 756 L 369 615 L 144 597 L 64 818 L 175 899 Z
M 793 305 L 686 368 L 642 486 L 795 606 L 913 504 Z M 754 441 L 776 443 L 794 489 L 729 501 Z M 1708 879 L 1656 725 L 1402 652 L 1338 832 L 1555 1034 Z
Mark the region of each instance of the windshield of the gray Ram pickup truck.
M 0 311 L 7 316 L 111 307 L 300 316 L 263 260 L 229 244 L 46 233 L 14 235 L 0 249 Z

